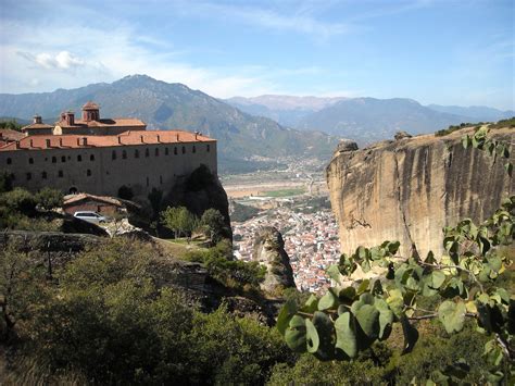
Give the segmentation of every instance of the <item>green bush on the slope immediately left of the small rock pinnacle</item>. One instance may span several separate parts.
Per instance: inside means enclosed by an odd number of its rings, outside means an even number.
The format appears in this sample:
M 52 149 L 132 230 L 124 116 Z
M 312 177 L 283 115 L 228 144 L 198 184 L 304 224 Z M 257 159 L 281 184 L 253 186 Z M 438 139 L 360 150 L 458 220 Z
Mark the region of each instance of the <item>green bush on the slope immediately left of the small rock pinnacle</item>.
M 231 246 L 227 240 L 208 250 L 189 252 L 186 259 L 204 264 L 211 276 L 226 287 L 239 290 L 246 289 L 247 286 L 258 288 L 266 274 L 266 267 L 258 262 L 234 260 Z

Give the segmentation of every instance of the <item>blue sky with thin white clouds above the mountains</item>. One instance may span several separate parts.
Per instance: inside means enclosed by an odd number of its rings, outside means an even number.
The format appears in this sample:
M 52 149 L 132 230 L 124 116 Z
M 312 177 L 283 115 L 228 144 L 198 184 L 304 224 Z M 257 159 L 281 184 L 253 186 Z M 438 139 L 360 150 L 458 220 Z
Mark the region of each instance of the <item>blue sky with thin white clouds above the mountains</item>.
M 147 74 L 213 97 L 512 109 L 514 0 L 0 0 L 0 92 Z

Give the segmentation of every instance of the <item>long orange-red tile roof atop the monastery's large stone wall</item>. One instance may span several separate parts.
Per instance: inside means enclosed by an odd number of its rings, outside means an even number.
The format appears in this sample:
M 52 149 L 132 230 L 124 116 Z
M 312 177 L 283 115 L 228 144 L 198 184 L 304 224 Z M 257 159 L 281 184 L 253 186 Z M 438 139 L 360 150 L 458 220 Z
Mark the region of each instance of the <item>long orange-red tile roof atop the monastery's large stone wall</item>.
M 47 142 L 49 140 L 49 142 Z M 85 142 L 86 140 L 86 142 Z M 137 130 L 118 135 L 34 135 L 0 147 L 0 151 L 104 148 L 125 145 L 160 145 L 180 142 L 214 142 L 210 137 L 183 130 Z M 47 145 L 50 146 L 47 146 Z

